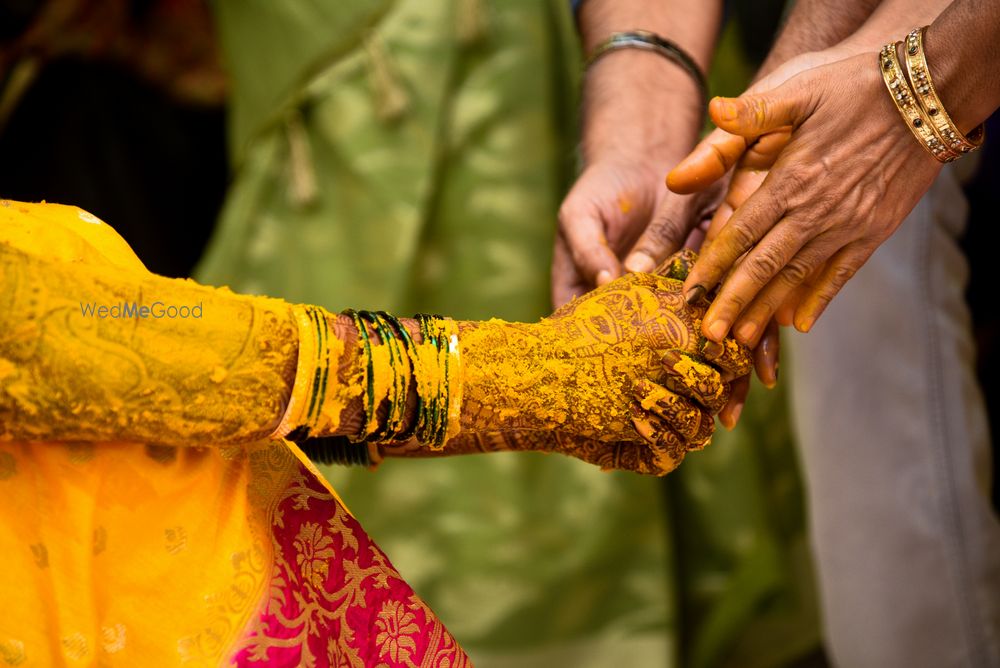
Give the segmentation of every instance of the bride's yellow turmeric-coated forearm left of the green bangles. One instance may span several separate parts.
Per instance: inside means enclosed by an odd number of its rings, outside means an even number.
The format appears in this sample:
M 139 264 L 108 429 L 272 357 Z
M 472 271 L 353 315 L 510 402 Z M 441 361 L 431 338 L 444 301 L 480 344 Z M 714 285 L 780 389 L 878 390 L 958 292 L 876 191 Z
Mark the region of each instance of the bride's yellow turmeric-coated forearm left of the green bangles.
M 271 433 L 297 331 L 280 301 L 0 245 L 0 437 L 163 445 Z

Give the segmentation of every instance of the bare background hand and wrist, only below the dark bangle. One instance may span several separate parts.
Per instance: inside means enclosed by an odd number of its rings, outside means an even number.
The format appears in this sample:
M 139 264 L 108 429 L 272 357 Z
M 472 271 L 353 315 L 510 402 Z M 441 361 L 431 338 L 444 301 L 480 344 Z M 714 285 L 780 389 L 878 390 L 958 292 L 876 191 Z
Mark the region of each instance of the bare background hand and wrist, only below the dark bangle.
M 621 51 L 595 63 L 585 87 L 585 167 L 559 209 L 556 307 L 621 276 L 621 258 L 640 237 L 653 259 L 629 269 L 652 271 L 677 250 L 665 249 L 662 225 L 650 228 L 654 212 L 668 199 L 703 199 L 673 195 L 663 183 L 664 170 L 694 146 L 700 126 L 703 103 L 686 72 L 653 53 Z

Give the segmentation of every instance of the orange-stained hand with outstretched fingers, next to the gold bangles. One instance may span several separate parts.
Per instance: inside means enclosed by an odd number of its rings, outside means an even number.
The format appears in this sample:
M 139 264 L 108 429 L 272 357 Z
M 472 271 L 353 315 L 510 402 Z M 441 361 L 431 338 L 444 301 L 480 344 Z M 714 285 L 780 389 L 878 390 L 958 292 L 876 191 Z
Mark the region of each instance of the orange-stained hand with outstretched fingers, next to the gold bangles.
M 743 194 L 752 194 L 737 197 L 731 219 L 710 233 L 685 293 L 722 282 L 703 322 L 712 340 L 732 327 L 752 345 L 789 298 L 798 300 L 796 328 L 808 331 L 926 192 L 940 164 L 901 122 L 874 53 L 807 70 L 770 91 L 713 100 L 710 114 L 722 130 L 748 140 L 793 130 L 787 146 L 779 138 L 758 152 L 764 162 L 776 155 L 773 167 L 756 190 L 753 175 L 744 176 Z

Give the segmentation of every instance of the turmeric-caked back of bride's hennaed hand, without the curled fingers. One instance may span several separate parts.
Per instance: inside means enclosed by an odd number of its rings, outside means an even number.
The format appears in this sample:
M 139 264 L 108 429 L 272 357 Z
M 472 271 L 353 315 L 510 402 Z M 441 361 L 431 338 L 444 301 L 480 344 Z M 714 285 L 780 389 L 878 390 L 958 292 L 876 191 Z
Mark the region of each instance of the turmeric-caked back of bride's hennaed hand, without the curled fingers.
M 681 286 L 630 274 L 539 323 L 462 323 L 463 429 L 619 440 L 628 397 L 639 380 L 663 376 L 664 353 L 702 354 L 703 308 L 689 306 Z

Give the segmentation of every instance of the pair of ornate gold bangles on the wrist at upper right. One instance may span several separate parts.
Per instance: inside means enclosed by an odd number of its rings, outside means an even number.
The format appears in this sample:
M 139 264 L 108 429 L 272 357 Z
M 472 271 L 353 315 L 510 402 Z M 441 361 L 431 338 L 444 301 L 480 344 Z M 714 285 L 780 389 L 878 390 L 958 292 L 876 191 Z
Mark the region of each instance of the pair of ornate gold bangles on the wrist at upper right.
M 897 54 L 900 42 L 882 47 L 878 58 L 879 70 L 896 109 L 920 145 L 940 162 L 951 162 L 982 146 L 986 131 L 980 125 L 966 136 L 945 111 L 927 67 L 924 54 L 926 30 L 926 26 L 914 28 L 902 42 L 905 74 Z

